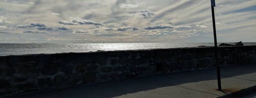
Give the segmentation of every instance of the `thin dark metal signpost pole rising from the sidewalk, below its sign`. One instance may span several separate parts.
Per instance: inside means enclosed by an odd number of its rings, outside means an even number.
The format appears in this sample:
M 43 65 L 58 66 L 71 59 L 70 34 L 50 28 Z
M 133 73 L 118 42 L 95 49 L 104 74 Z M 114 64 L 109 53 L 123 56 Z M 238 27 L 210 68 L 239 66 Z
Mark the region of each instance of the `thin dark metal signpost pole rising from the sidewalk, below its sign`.
M 214 16 L 214 7 L 212 6 L 212 23 L 214 29 L 214 46 L 215 46 L 215 60 L 216 60 L 216 68 L 217 68 L 217 79 L 218 79 L 218 90 L 221 90 L 221 82 L 220 82 L 220 68 L 218 61 L 218 48 L 217 48 L 217 38 L 216 38 L 216 27 L 215 27 L 215 16 Z

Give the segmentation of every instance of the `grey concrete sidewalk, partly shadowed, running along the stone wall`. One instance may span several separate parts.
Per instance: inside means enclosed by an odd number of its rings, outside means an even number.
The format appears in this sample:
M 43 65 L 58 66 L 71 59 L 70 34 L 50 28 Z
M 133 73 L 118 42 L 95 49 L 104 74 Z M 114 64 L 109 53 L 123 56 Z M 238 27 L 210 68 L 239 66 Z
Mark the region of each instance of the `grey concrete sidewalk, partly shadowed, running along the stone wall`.
M 223 91 L 217 90 L 216 68 L 211 68 L 16 94 L 4 98 L 216 98 L 224 95 L 245 97 L 250 92 L 256 92 L 256 64 L 221 67 L 220 71 Z

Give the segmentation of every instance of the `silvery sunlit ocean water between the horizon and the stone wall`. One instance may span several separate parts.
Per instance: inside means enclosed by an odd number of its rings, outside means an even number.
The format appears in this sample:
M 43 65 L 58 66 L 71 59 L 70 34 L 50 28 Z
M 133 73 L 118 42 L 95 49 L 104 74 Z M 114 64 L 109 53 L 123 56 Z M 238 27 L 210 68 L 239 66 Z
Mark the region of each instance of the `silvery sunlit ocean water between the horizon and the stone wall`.
M 234 42 L 219 42 L 219 44 Z M 244 45 L 256 45 L 256 42 L 243 42 Z M 0 56 L 22 54 L 53 54 L 68 52 L 94 52 L 98 50 L 137 50 L 159 48 L 181 48 L 197 46 L 214 46 L 214 42 L 177 42 L 177 43 L 0 43 Z

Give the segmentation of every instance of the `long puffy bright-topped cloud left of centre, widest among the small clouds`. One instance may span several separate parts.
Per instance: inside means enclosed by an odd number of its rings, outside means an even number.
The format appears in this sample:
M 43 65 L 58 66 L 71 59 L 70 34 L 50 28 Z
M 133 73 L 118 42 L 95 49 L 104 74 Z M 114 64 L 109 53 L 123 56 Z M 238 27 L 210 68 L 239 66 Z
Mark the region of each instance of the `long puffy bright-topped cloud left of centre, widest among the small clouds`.
M 86 19 L 81 19 L 81 18 L 72 18 L 70 21 L 59 21 L 58 23 L 60 24 L 67 24 L 67 25 L 77 25 L 77 24 L 94 24 L 94 25 L 104 25 L 103 23 L 99 22 L 92 22 Z

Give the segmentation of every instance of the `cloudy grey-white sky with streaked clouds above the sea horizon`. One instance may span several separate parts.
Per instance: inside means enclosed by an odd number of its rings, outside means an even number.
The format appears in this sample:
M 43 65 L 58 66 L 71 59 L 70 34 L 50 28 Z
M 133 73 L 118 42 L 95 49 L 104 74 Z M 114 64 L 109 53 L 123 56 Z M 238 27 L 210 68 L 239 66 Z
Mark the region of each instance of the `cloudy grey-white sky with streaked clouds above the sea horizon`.
M 217 42 L 256 42 L 256 0 L 216 0 Z M 0 43 L 214 42 L 211 0 L 0 0 Z

